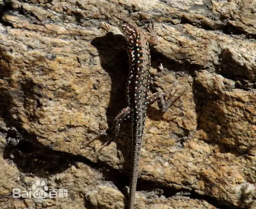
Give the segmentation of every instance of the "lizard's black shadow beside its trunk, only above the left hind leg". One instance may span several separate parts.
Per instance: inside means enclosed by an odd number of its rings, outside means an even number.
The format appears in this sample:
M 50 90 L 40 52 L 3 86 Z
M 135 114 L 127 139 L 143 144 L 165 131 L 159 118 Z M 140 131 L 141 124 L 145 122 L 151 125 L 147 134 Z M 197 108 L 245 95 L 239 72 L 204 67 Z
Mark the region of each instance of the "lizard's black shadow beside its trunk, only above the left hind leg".
M 119 111 L 127 106 L 125 84 L 129 71 L 128 55 L 126 50 L 118 47 L 117 43 L 117 40 L 124 42 L 123 38 L 122 35 L 108 33 L 94 38 L 91 42 L 98 50 L 102 68 L 111 78 L 110 102 L 106 111 L 109 127 Z

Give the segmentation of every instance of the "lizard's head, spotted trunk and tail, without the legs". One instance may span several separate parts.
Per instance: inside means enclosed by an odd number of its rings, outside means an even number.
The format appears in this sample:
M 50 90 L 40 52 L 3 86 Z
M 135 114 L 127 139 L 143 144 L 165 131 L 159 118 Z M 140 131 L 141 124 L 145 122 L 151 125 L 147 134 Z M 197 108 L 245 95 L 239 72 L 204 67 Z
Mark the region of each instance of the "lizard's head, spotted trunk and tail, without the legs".
M 131 108 L 132 119 L 132 159 L 130 171 L 130 195 L 128 208 L 134 208 L 136 184 L 142 136 L 148 107 L 150 88 L 150 49 L 146 36 L 131 20 L 114 16 L 114 21 L 127 40 L 130 69 L 126 82 L 126 100 Z

